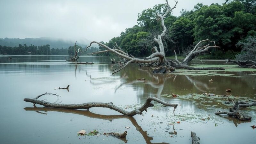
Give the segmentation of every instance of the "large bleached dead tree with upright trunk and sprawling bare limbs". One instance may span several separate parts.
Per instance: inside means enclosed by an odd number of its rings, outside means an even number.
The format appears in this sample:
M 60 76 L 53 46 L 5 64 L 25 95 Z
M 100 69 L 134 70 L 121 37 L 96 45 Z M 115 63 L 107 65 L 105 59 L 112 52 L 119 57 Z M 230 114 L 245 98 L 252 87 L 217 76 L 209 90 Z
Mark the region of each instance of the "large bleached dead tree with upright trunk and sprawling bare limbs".
M 92 41 L 90 43 L 90 45 L 87 46 L 87 48 L 89 48 L 93 43 L 99 44 L 100 46 L 104 47 L 106 50 L 99 51 L 99 52 L 92 52 L 91 54 L 101 53 L 101 52 L 113 52 L 117 56 L 124 59 L 125 63 L 123 65 L 117 67 L 116 69 L 114 69 L 114 72 L 112 74 L 125 68 L 125 66 L 127 66 L 129 63 L 142 63 L 142 64 L 148 63 L 148 64 L 150 64 L 150 66 L 155 67 L 155 69 L 153 70 L 153 73 L 169 73 L 169 72 L 174 71 L 175 68 L 185 68 L 185 69 L 190 69 L 190 70 L 209 70 L 209 69 L 210 70 L 212 70 L 212 69 L 224 70 L 224 68 L 220 68 L 220 67 L 194 68 L 194 67 L 188 66 L 188 63 L 191 60 L 193 60 L 198 54 L 208 52 L 208 50 L 211 48 L 219 48 L 218 46 L 215 45 L 214 41 L 210 41 L 208 39 L 200 41 L 198 44 L 196 44 L 194 49 L 187 55 L 185 60 L 183 60 L 182 62 L 180 62 L 177 59 L 177 57 L 176 57 L 175 61 L 167 60 L 165 58 L 164 44 L 163 44 L 162 39 L 167 33 L 167 28 L 164 25 L 164 19 L 170 12 L 172 12 L 172 10 L 174 8 L 176 8 L 177 3 L 178 3 L 178 1 L 175 1 L 175 5 L 171 8 L 170 5 L 168 4 L 168 1 L 166 0 L 166 5 L 167 5 L 166 11 L 163 12 L 163 14 L 156 13 L 156 15 L 157 15 L 156 20 L 161 22 L 162 33 L 157 36 L 154 36 L 154 42 L 158 45 L 158 47 L 155 46 L 152 48 L 153 53 L 150 56 L 148 56 L 144 59 L 134 58 L 131 54 L 125 53 L 117 44 L 112 49 L 112 48 L 108 47 L 107 45 L 101 44 L 96 41 Z M 87 50 L 87 48 L 86 48 L 86 50 Z

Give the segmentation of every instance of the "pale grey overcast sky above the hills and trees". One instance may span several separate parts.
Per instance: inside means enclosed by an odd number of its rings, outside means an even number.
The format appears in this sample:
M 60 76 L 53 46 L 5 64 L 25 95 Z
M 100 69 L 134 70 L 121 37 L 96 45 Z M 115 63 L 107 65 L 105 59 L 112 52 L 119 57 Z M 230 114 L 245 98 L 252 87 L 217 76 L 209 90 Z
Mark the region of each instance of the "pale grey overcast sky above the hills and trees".
M 225 0 L 179 0 L 173 10 Z M 165 0 L 0 0 L 0 38 L 54 37 L 109 41 L 136 25 L 137 15 Z M 169 0 L 173 6 L 174 0 Z

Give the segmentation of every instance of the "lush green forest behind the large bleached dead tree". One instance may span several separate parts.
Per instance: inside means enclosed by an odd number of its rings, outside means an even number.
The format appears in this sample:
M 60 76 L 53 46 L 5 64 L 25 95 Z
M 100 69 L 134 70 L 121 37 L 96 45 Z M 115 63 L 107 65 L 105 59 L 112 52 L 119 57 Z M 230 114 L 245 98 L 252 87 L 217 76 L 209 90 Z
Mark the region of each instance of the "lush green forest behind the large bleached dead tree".
M 153 8 L 143 10 L 138 14 L 137 24 L 127 28 L 120 36 L 109 42 L 100 42 L 109 47 L 117 43 L 125 52 L 134 56 L 148 56 L 151 48 L 156 46 L 153 36 L 161 33 L 161 25 L 155 19 L 156 13 L 166 9 L 165 4 L 157 4 Z M 204 58 L 226 59 L 239 55 L 243 42 L 250 36 L 256 36 L 256 0 L 227 0 L 224 4 L 203 5 L 198 3 L 193 10 L 184 10 L 180 16 L 169 14 L 165 18 L 168 36 L 164 37 L 166 55 L 186 53 L 202 39 L 210 39 L 220 46 L 220 49 L 211 50 L 210 55 Z M 100 50 L 105 50 L 99 46 Z M 113 56 L 112 53 L 99 55 Z

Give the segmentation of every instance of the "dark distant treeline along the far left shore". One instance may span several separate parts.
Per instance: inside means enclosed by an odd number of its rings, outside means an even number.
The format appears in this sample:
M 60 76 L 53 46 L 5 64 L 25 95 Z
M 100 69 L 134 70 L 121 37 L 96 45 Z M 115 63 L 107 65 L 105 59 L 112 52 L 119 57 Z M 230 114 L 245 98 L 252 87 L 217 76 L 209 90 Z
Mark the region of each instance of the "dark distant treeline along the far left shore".
M 3 55 L 73 55 L 74 54 L 74 47 L 75 46 L 69 46 L 69 48 L 51 48 L 49 44 L 41 45 L 41 46 L 35 46 L 35 45 L 29 45 L 27 44 L 19 44 L 19 46 L 11 47 L 11 46 L 1 46 L 0 45 L 0 54 Z M 81 50 L 84 50 L 85 48 L 82 48 L 81 46 L 76 46 L 76 49 L 80 48 Z M 98 48 L 91 47 L 87 50 L 87 52 L 84 52 L 83 54 L 91 53 L 94 51 L 98 51 Z

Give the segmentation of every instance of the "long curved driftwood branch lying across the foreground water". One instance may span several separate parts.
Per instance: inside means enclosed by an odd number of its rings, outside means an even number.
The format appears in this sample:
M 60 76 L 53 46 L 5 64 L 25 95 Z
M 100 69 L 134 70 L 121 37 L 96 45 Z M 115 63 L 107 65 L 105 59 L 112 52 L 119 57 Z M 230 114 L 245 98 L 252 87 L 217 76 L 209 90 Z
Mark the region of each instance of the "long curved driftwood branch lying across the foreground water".
M 163 100 L 160 100 L 156 97 L 148 97 L 148 99 L 146 100 L 144 105 L 142 105 L 140 108 L 134 109 L 132 111 L 126 111 L 122 108 L 119 108 L 119 107 L 113 105 L 112 102 L 109 102 L 109 103 L 88 102 L 88 103 L 82 103 L 82 104 L 56 104 L 56 103 L 51 103 L 51 102 L 37 100 L 37 99 L 29 99 L 29 98 L 24 99 L 24 101 L 39 104 L 44 107 L 50 107 L 50 108 L 67 108 L 67 109 L 89 109 L 89 108 L 93 108 L 93 107 L 110 108 L 110 109 L 113 109 L 123 115 L 126 115 L 126 116 L 135 116 L 137 114 L 142 115 L 142 112 L 147 111 L 148 107 L 154 106 L 154 104 L 152 104 L 151 101 L 159 102 L 165 106 L 174 107 L 173 114 L 174 114 L 176 107 L 178 106 L 177 104 L 171 104 L 171 103 L 165 102 Z

